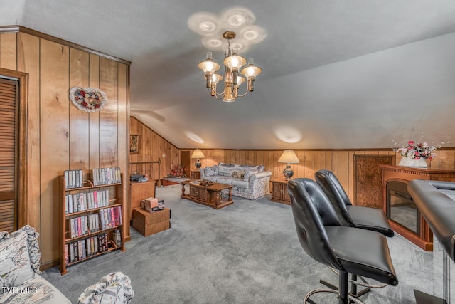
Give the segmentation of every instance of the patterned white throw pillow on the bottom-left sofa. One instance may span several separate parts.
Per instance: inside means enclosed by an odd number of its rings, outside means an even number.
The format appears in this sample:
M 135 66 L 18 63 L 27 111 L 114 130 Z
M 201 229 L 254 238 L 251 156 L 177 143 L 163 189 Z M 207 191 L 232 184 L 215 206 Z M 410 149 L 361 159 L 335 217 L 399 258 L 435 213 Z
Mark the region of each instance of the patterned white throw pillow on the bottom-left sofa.
M 35 278 L 28 254 L 27 231 L 0 234 L 1 287 L 17 287 Z M 0 293 L 4 293 L 1 288 Z

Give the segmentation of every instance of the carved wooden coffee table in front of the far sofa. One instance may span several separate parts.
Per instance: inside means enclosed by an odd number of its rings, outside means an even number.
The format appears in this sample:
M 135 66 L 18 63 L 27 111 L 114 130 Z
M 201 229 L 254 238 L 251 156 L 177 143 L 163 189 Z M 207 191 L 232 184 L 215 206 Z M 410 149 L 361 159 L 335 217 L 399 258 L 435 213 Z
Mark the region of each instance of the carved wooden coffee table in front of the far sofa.
M 232 201 L 232 185 L 213 183 L 209 186 L 203 186 L 198 183 L 198 179 L 191 179 L 189 181 L 181 182 L 182 184 L 182 199 L 189 199 L 198 204 L 210 206 L 214 209 L 221 209 L 225 206 L 234 204 Z M 190 193 L 185 193 L 185 186 L 190 187 Z M 221 191 L 229 189 L 228 199 L 223 199 Z

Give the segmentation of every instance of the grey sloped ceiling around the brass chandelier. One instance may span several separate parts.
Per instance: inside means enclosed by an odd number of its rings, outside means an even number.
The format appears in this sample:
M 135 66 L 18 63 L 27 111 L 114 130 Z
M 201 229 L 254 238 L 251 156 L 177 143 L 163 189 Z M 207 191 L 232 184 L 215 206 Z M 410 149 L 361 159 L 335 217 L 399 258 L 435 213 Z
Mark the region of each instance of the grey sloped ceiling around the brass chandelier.
M 2 0 L 21 25 L 132 61 L 131 114 L 180 148 L 381 148 L 455 142 L 453 0 Z M 262 74 L 210 98 L 200 11 L 241 6 L 267 33 L 241 53 Z M 218 36 L 225 29 L 220 28 Z M 234 40 L 235 41 L 235 40 Z M 221 63 L 223 53 L 213 52 Z

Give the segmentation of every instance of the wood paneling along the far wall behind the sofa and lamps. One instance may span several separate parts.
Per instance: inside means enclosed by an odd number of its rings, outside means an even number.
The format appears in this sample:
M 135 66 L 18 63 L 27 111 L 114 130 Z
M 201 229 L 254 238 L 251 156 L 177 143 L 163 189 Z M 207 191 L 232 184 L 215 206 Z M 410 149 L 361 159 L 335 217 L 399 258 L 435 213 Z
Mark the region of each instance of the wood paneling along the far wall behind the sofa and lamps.
M 178 149 L 156 132 L 144 125 L 141 121 L 131 117 L 131 134 L 141 135 L 142 145 L 139 154 L 131 154 L 130 161 L 146 162 L 156 160 L 161 154 L 166 154 L 161 164 L 161 177 L 166 177 L 171 167 L 179 164 Z M 219 162 L 232 164 L 264 164 L 267 171 L 272 172 L 271 179 L 284 179 L 283 170 L 286 164 L 278 162 L 284 150 L 229 150 L 229 149 L 200 149 L 205 158 L 200 159 L 202 167 L 213 166 Z M 354 154 L 360 155 L 395 155 L 391 149 L 355 149 L 355 150 L 294 150 L 299 157 L 300 164 L 291 164 L 294 177 L 308 177 L 314 179 L 314 172 L 328 169 L 336 174 L 351 200 L 354 197 Z M 429 169 L 455 169 L 455 148 L 444 148 L 436 151 L 437 157 L 427 161 Z M 171 157 L 168 157 L 171 155 Z M 400 155 L 396 154 L 396 162 L 400 162 Z M 193 168 L 191 168 L 193 169 Z

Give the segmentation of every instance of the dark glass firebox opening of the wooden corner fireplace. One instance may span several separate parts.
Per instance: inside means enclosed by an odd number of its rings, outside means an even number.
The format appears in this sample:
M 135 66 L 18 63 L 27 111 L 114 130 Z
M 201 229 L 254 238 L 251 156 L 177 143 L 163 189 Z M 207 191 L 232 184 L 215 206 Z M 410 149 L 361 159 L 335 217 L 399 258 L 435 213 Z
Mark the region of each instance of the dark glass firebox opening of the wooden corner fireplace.
M 390 181 L 385 185 L 387 219 L 395 221 L 412 233 L 420 231 L 420 211 L 407 192 L 407 183 Z

